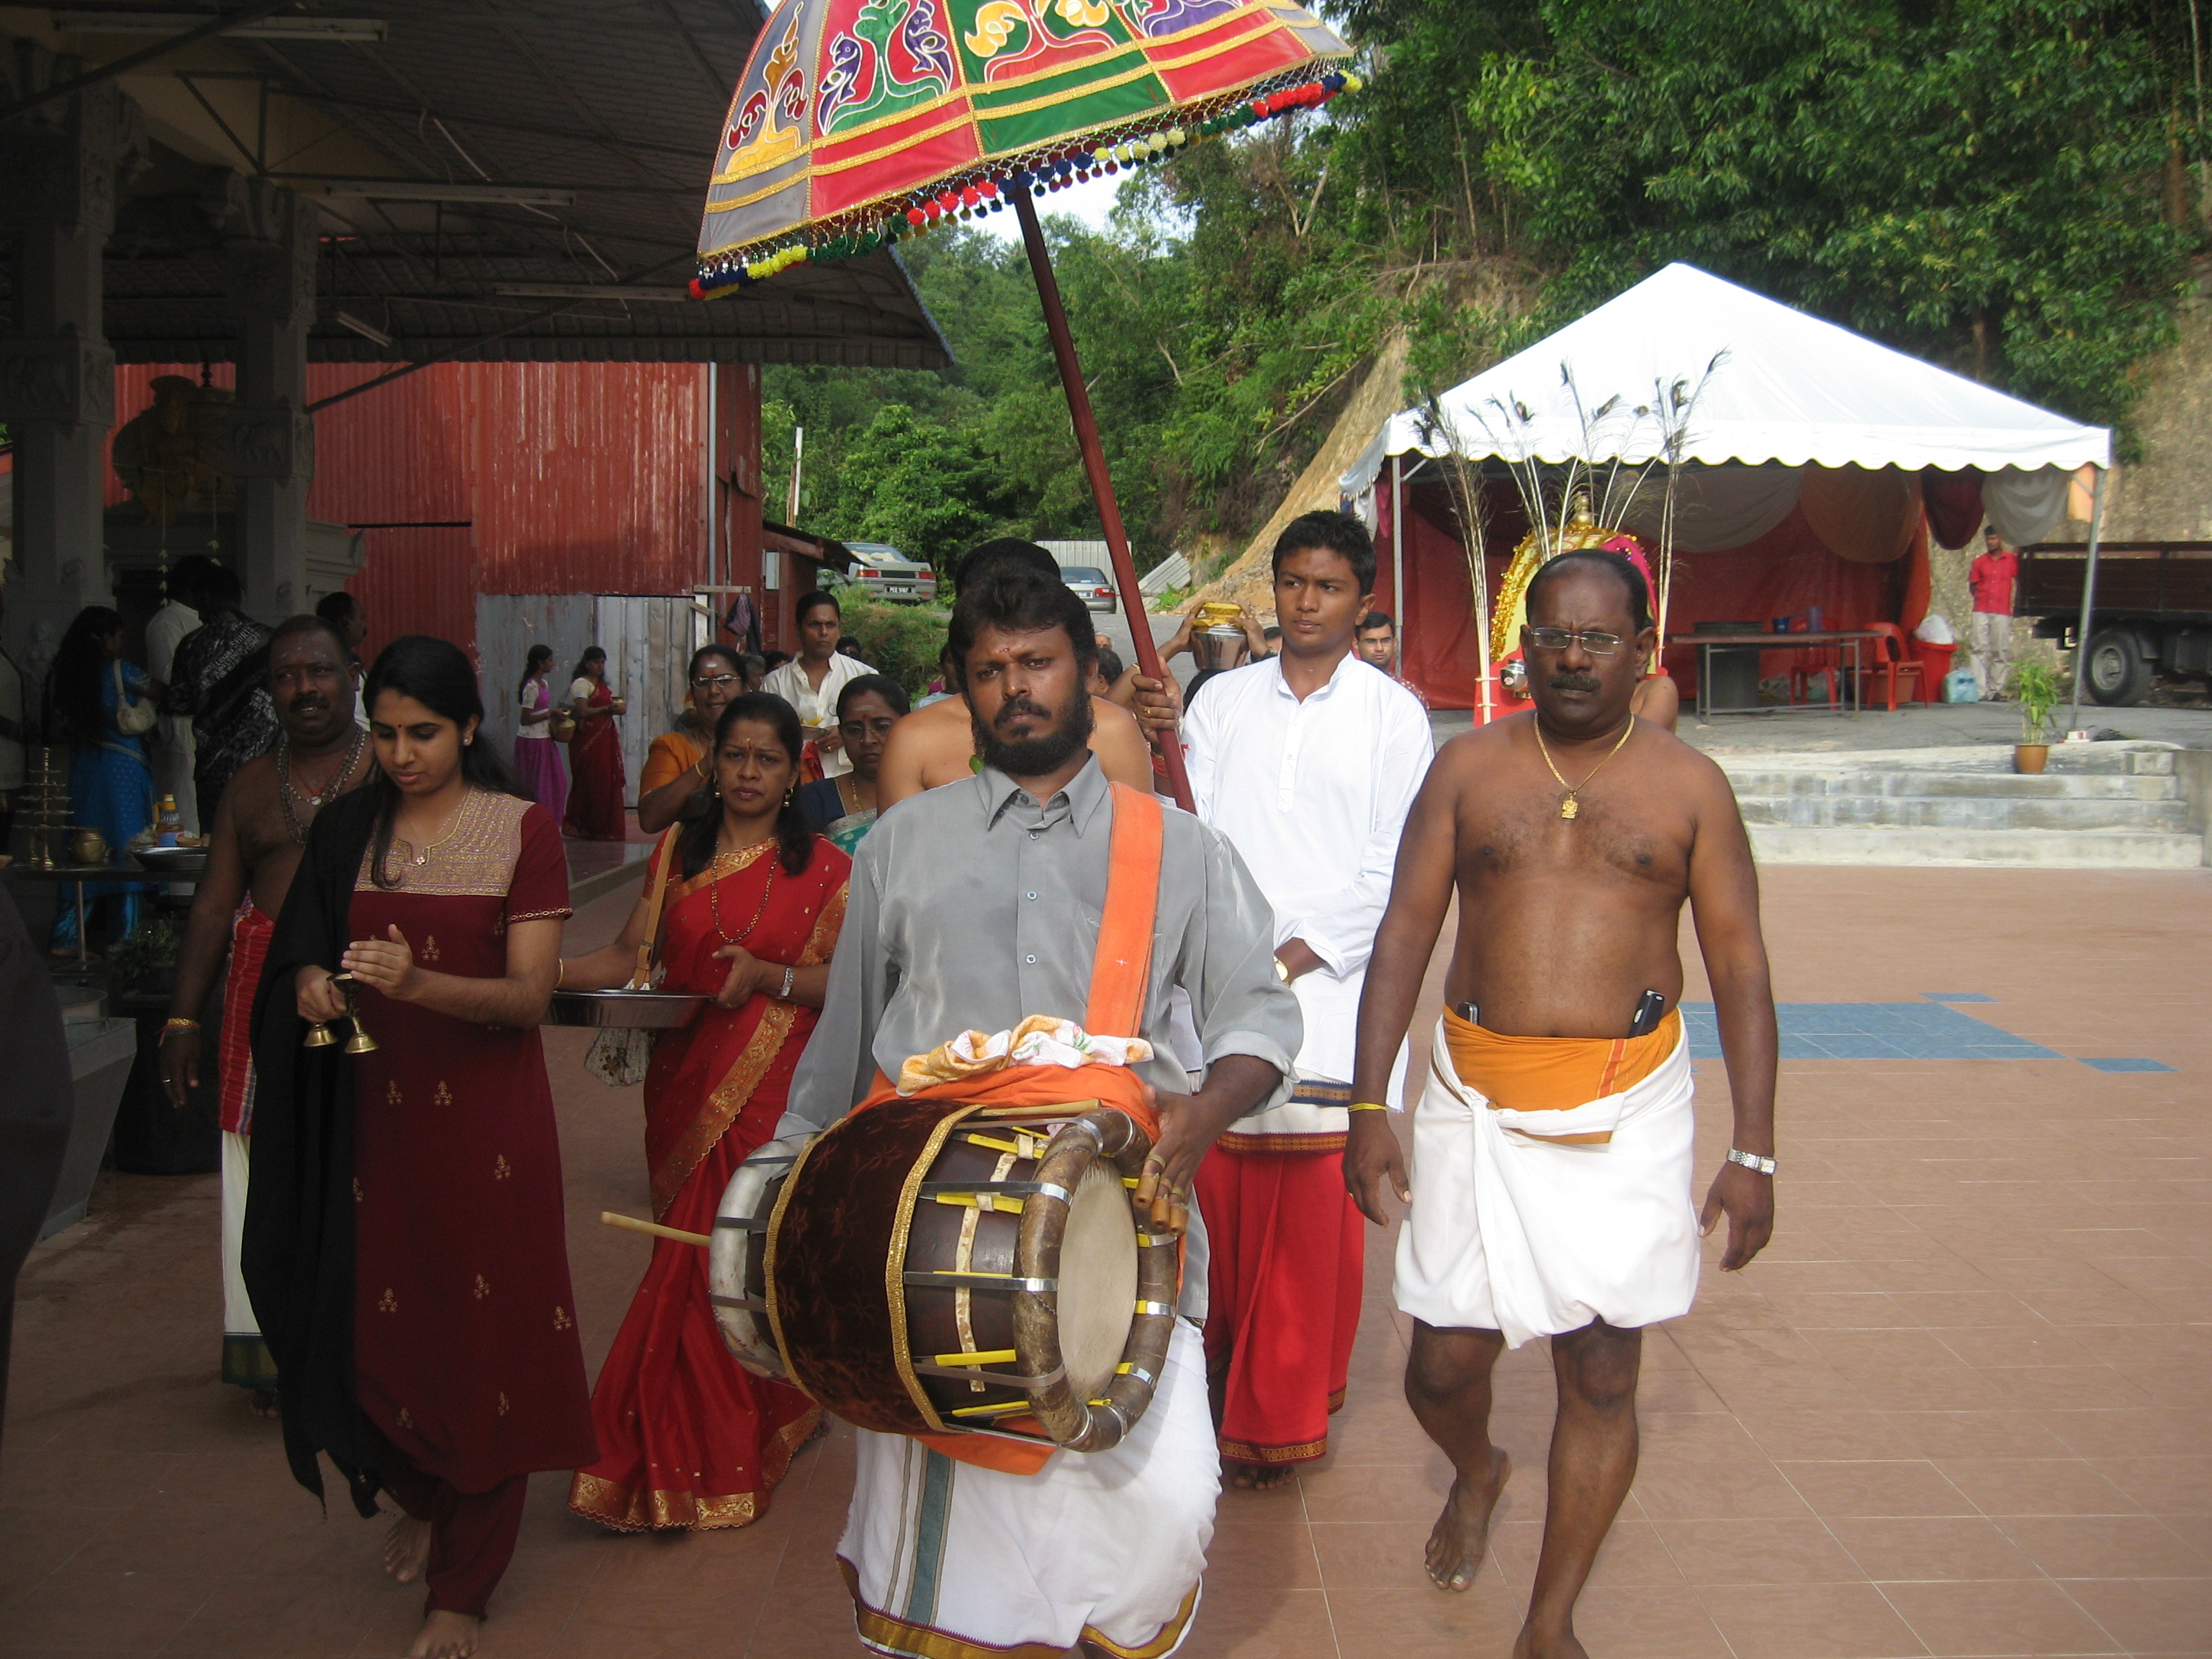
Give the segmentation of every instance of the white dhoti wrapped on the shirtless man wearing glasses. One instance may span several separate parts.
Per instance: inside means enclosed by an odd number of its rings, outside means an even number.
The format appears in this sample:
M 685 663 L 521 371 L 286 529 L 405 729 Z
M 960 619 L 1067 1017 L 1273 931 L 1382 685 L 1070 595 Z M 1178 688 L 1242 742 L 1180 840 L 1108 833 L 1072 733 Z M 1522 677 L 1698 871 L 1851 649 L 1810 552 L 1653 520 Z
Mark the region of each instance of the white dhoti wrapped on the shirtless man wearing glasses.
M 1683 1033 L 1624 1093 L 1573 1110 L 1500 1110 L 1453 1073 L 1438 1022 L 1413 1113 L 1398 1307 L 1429 1325 L 1504 1332 L 1511 1347 L 1595 1318 L 1630 1329 L 1690 1312 L 1692 1093 Z M 1542 1139 L 1604 1130 L 1604 1144 Z

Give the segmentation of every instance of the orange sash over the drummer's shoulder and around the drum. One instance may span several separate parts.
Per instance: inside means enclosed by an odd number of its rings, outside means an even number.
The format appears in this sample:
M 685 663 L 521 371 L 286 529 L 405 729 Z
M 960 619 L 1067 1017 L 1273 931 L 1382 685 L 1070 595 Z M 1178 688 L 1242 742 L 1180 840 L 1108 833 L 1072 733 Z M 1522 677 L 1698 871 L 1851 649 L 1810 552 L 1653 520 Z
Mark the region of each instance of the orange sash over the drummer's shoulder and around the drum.
M 1137 1035 L 1144 1018 L 1146 982 L 1152 978 L 1152 925 L 1159 918 L 1159 854 L 1166 816 L 1159 801 L 1126 783 L 1113 785 L 1113 836 L 1106 845 L 1106 911 L 1099 916 L 1097 956 L 1091 960 L 1091 1006 L 1084 1031 L 1115 1037 Z M 987 1106 L 1066 1106 L 1068 1095 L 1097 1099 L 1128 1113 L 1137 1126 L 1159 1137 L 1159 1113 L 1152 1108 L 1144 1079 L 1128 1066 L 1006 1066 L 982 1077 L 953 1077 L 914 1095 L 900 1095 L 880 1071 L 867 1099 L 854 1106 L 865 1113 L 891 1099 L 982 1102 Z M 1026 1440 L 998 1440 L 980 1433 L 918 1433 L 931 1451 L 942 1451 L 978 1469 L 1006 1475 L 1033 1475 L 1044 1469 L 1055 1447 Z

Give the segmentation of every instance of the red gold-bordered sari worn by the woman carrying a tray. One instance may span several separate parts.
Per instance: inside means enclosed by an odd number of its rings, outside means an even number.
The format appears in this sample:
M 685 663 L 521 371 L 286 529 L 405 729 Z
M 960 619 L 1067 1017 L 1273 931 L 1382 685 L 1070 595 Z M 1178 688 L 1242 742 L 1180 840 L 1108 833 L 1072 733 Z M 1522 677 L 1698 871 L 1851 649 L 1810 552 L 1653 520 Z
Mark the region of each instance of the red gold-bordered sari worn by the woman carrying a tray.
M 690 880 L 670 874 L 666 987 L 719 991 L 730 964 L 714 951 L 730 940 L 763 962 L 827 962 L 849 872 L 852 860 L 816 838 L 796 876 L 772 841 Z M 730 1175 L 783 1117 L 818 1018 L 818 1009 L 754 995 L 661 1035 L 646 1071 L 646 1166 L 659 1221 L 686 1232 L 714 1228 Z M 730 1358 L 708 1303 L 706 1252 L 670 1239 L 653 1245 L 591 1413 L 604 1455 L 577 1471 L 568 1509 L 626 1533 L 750 1526 L 821 1422 L 799 1389 L 754 1378 Z

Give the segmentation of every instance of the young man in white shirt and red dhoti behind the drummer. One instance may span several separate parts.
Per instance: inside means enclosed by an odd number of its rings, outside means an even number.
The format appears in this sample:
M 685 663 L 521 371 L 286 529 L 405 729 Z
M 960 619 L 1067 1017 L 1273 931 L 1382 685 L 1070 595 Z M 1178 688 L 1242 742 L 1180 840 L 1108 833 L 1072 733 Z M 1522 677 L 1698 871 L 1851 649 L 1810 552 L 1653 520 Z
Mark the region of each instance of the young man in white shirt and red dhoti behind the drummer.
M 1294 520 L 1274 544 L 1281 655 L 1214 675 L 1183 728 L 1199 818 L 1274 907 L 1276 973 L 1305 1015 L 1290 1102 L 1239 1119 L 1199 1166 L 1221 1460 L 1248 1489 L 1327 1449 L 1360 1318 L 1360 1217 L 1338 1170 L 1354 1026 L 1433 752 L 1420 701 L 1354 648 L 1374 577 L 1356 518 Z

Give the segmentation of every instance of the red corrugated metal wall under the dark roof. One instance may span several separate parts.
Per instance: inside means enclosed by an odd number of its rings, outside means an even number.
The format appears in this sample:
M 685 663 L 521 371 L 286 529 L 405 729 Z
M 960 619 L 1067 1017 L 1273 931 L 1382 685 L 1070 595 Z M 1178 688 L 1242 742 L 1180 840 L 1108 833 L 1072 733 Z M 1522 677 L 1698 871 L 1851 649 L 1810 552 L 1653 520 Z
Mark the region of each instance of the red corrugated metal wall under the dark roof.
M 307 398 L 383 372 L 312 365 Z M 159 374 L 197 380 L 199 365 L 119 367 L 119 420 L 153 403 Z M 741 471 L 757 480 L 759 372 L 721 378 L 750 389 L 739 400 L 752 420 L 734 425 L 754 451 Z M 215 383 L 230 380 L 230 365 L 215 365 Z M 347 584 L 369 608 L 372 650 L 403 633 L 473 648 L 478 593 L 684 593 L 706 582 L 706 420 L 699 363 L 440 363 L 316 416 L 307 513 L 376 526 Z M 726 456 L 717 462 L 730 469 Z M 106 498 L 124 500 L 113 469 Z

